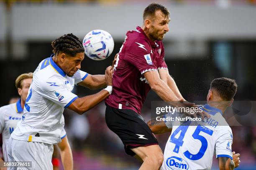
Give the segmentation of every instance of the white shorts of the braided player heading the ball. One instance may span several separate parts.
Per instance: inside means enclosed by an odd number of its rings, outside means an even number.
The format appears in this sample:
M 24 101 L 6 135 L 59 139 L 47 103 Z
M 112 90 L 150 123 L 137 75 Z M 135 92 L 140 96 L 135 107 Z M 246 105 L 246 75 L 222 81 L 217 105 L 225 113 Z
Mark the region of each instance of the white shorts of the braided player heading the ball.
M 10 137 L 8 141 L 8 161 L 32 161 L 31 168 L 8 168 L 8 170 L 52 170 L 53 145 L 42 142 L 27 142 Z

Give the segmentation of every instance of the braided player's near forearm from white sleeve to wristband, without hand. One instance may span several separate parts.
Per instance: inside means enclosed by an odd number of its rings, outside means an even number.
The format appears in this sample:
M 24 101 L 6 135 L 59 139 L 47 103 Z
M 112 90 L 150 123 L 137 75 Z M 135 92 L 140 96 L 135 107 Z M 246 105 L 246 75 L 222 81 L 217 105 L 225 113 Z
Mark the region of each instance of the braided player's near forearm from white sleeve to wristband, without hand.
M 67 108 L 82 115 L 84 112 L 90 110 L 92 107 L 102 102 L 107 98 L 110 93 L 107 90 L 101 90 L 94 95 L 87 95 L 84 97 L 77 98 Z

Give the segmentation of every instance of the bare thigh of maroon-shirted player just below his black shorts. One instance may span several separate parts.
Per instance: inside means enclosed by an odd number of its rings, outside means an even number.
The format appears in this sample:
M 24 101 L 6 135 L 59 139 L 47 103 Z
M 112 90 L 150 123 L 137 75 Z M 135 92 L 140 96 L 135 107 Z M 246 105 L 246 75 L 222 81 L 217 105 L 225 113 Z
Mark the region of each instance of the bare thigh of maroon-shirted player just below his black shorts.
M 140 146 L 137 148 L 131 149 L 136 155 L 138 155 L 142 160 L 145 158 L 152 158 L 152 159 L 162 159 L 163 152 L 159 145 L 149 145 L 149 146 Z

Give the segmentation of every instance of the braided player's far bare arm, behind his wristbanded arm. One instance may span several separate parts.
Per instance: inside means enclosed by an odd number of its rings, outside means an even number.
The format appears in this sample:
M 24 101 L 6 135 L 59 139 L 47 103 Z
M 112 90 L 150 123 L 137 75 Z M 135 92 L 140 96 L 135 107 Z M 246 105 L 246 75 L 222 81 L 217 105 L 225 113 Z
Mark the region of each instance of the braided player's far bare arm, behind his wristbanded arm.
M 106 87 L 105 75 L 88 75 L 82 82 L 77 83 L 84 87 L 88 87 L 91 90 Z

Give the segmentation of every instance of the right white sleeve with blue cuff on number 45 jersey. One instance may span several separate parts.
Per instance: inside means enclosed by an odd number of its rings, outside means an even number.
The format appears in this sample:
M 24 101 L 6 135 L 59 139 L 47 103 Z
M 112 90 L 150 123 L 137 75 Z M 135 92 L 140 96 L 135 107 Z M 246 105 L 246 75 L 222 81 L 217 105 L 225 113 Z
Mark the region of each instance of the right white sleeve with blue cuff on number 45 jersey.
M 224 129 L 222 128 L 222 130 L 225 131 L 224 133 L 221 133 L 215 144 L 216 158 L 228 157 L 233 159 L 233 153 L 231 150 L 231 145 L 233 143 L 232 131 L 230 128 L 226 127 L 224 127 Z

